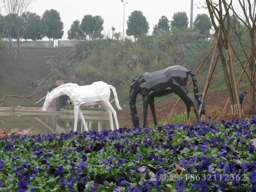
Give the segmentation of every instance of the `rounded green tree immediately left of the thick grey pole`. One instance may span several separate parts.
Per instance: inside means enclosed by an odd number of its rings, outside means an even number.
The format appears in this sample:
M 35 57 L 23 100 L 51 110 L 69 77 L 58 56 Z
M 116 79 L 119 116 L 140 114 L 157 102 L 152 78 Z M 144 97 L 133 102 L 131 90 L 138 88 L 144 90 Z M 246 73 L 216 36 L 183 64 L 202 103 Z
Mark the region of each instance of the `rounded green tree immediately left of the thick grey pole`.
M 186 12 L 177 12 L 172 16 L 171 27 L 183 29 L 188 27 L 188 16 Z

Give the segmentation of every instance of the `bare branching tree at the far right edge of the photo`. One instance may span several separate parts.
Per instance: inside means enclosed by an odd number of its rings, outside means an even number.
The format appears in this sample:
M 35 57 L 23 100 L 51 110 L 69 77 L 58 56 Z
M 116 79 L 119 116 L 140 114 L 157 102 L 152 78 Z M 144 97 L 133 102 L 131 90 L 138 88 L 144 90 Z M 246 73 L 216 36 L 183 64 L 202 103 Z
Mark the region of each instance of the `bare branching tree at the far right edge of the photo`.
M 242 42 L 240 43 L 242 49 L 244 50 L 245 48 L 249 48 L 250 49 L 250 56 L 248 57 L 247 53 L 244 51 L 244 54 L 247 57 L 247 60 L 249 61 L 249 73 L 251 74 L 251 80 L 253 82 L 253 84 L 255 85 L 255 78 L 253 78 L 255 76 L 255 51 L 256 51 L 256 47 L 255 47 L 255 33 L 256 33 L 256 1 L 254 0 L 253 3 L 251 4 L 250 0 L 238 0 L 241 9 L 242 9 L 242 13 L 243 15 L 241 16 L 239 14 L 239 11 L 236 11 L 234 9 L 234 7 L 231 7 L 231 10 L 233 11 L 233 14 L 236 16 L 236 18 L 238 18 L 243 24 L 244 26 L 248 29 L 248 32 L 250 34 L 250 42 L 251 42 L 251 47 L 249 47 L 248 45 L 243 44 Z M 241 11 L 241 10 L 240 10 Z M 241 30 L 234 28 L 233 30 L 237 36 L 239 36 L 239 34 L 241 34 Z M 240 38 L 241 40 L 241 38 Z M 252 103 L 252 108 L 255 108 L 255 96 L 254 96 L 254 88 L 252 86 L 252 84 L 250 84 L 250 98 L 249 100 Z

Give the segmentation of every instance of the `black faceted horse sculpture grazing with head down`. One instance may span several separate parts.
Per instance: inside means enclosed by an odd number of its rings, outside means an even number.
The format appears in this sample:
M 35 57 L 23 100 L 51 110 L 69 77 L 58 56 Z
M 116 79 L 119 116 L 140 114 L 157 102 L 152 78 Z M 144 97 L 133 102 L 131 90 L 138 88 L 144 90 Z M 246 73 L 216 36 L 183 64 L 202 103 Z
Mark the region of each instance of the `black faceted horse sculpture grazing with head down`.
M 139 93 L 143 100 L 143 127 L 145 127 L 147 123 L 148 104 L 156 126 L 157 121 L 154 98 L 162 97 L 172 92 L 177 94 L 186 104 L 188 118 L 190 114 L 190 107 L 194 106 L 196 118 L 199 121 L 200 117 L 196 109 L 196 103 L 186 87 L 188 83 L 188 74 L 190 74 L 193 79 L 195 98 L 201 104 L 196 84 L 196 76 L 191 70 L 187 70 L 186 68 L 177 65 L 152 73 L 141 73 L 137 75 L 132 80 L 130 88 L 130 109 L 132 112 L 133 126 L 139 126 L 139 116 L 136 109 L 136 97 Z

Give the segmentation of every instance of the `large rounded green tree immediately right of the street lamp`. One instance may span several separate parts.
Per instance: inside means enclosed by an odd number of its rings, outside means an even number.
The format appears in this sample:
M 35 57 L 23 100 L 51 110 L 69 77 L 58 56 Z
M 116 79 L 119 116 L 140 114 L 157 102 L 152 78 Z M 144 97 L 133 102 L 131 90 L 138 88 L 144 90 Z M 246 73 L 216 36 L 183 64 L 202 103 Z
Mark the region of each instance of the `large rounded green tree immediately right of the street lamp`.
M 136 41 L 136 37 L 148 33 L 148 29 L 148 21 L 141 11 L 134 11 L 129 15 L 126 29 L 128 36 L 133 36 Z

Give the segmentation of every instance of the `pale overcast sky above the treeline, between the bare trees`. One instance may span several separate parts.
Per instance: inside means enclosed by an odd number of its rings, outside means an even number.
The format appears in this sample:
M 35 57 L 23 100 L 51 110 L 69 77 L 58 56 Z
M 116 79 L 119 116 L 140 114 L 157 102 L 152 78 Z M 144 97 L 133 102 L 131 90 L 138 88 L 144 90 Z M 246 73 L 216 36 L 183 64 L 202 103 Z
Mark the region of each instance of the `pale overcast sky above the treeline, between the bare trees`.
M 36 12 L 42 15 L 45 10 L 55 9 L 60 13 L 61 21 L 64 25 L 64 35 L 62 40 L 67 39 L 68 30 L 74 20 L 82 21 L 84 15 L 91 14 L 93 16 L 100 15 L 104 19 L 104 34 L 112 34 L 111 27 L 116 28 L 116 32 L 123 34 L 123 19 L 124 19 L 124 35 L 126 29 L 126 21 L 131 12 L 138 10 L 143 12 L 149 23 L 149 34 L 152 34 L 153 27 L 158 23 L 162 15 L 172 20 L 175 12 L 186 12 L 188 21 L 190 20 L 190 0 L 32 0 L 33 3 L 29 6 L 30 12 Z M 201 4 L 199 4 L 199 2 Z M 204 4 L 204 0 L 194 0 L 194 16 L 197 14 L 206 13 L 207 9 L 198 9 L 196 4 Z M 2 14 L 4 12 L 2 8 Z M 209 14 L 208 14 L 209 15 Z M 188 24 L 189 26 L 189 24 Z M 47 39 L 47 38 L 46 38 Z

